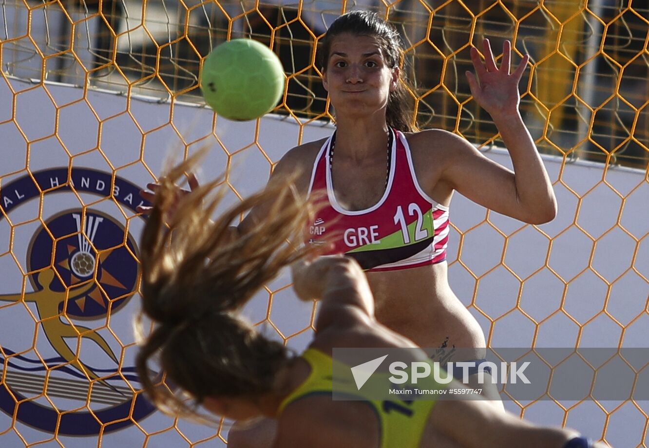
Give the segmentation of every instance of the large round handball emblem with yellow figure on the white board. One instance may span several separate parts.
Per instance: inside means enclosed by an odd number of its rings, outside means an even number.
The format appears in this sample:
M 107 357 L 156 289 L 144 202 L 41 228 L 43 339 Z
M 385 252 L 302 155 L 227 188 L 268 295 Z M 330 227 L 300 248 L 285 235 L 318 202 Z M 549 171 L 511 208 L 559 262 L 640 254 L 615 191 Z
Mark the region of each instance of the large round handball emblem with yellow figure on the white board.
M 40 191 L 43 198 L 66 192 L 74 196 L 64 183 L 67 168 L 32 176 L 2 186 L 0 220 L 11 219 L 16 207 L 40 198 Z M 142 204 L 136 185 L 105 172 L 73 169 L 71 183 L 76 195 L 103 195 L 133 214 Z M 99 208 L 67 208 L 49 217 L 43 211 L 25 251 L 31 289 L 12 291 L 0 284 L 5 313 L 11 302 L 35 310 L 31 325 L 15 324 L 19 334 L 3 335 L 0 341 L 0 378 L 5 377 L 0 383 L 0 411 L 61 435 L 110 432 L 154 411 L 141 394 L 134 394 L 138 378 L 134 367 L 127 365 L 132 360 L 124 355 L 129 341 L 115 336 L 120 331 L 121 338 L 132 333 L 132 313 L 119 313 L 138 289 L 132 222 L 127 220 L 125 226 L 119 217 Z M 19 257 L 16 248 L 12 252 Z M 25 349 L 26 344 L 32 344 L 31 349 Z

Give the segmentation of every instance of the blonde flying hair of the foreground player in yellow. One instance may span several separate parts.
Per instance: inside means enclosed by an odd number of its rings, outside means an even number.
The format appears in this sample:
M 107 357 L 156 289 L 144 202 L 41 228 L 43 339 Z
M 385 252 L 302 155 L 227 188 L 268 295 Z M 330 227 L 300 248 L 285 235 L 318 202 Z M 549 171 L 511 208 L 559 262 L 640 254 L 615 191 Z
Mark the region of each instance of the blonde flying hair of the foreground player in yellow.
M 313 250 L 299 244 L 312 207 L 297 195 L 292 180 L 269 183 L 212 222 L 227 191 L 215 180 L 185 196 L 165 224 L 178 201 L 175 184 L 199 156 L 160 180 L 141 238 L 142 310 L 136 318 L 141 344 L 136 368 L 143 390 L 161 410 L 188 416 L 196 415 L 204 397 L 272 390 L 276 372 L 291 356 L 283 344 L 239 318 L 238 311 L 284 266 Z M 230 228 L 263 203 L 272 205 L 256 228 L 245 235 Z M 148 336 L 142 314 L 154 324 Z M 156 355 L 166 381 L 162 372 L 149 369 L 149 359 Z M 177 388 L 195 403 L 188 403 Z

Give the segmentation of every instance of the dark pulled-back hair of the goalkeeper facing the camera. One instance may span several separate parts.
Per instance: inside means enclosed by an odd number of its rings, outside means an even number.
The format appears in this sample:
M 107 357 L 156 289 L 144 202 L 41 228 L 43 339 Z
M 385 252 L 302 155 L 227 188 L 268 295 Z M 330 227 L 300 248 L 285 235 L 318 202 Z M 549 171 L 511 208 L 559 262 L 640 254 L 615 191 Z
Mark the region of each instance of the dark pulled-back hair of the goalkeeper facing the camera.
M 375 12 L 358 10 L 343 14 L 334 20 L 320 41 L 318 56 L 323 73 L 328 64 L 332 41 L 343 33 L 377 38 L 388 67 L 393 69 L 403 64 L 404 49 L 397 29 Z M 403 132 L 417 132 L 419 128 L 413 117 L 412 96 L 409 90 L 414 91 L 405 71 L 401 70 L 397 88 L 390 92 L 387 99 L 386 122 L 388 126 Z

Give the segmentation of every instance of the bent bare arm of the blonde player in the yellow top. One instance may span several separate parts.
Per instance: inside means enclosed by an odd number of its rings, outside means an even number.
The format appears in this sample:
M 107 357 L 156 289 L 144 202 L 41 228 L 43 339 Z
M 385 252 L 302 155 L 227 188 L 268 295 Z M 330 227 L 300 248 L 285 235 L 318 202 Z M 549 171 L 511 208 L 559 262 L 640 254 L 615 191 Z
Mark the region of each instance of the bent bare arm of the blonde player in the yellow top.
M 348 320 L 374 320 L 374 296 L 361 267 L 350 257 L 326 255 L 291 266 L 300 300 L 320 300 L 317 331 Z

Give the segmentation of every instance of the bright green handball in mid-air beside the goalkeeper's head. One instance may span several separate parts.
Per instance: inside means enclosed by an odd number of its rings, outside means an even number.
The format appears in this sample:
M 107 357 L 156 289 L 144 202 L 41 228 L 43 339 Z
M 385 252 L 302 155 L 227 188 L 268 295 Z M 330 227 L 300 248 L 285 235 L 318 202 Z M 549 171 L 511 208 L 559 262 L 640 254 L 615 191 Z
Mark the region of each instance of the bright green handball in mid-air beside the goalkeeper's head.
M 268 47 L 251 39 L 217 46 L 203 62 L 205 102 L 230 120 L 252 120 L 270 112 L 284 93 L 284 69 Z

